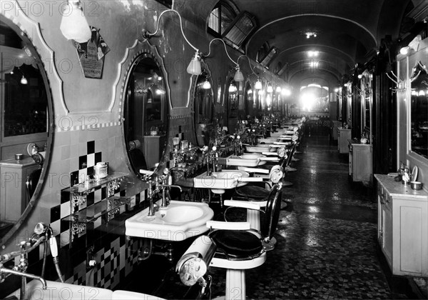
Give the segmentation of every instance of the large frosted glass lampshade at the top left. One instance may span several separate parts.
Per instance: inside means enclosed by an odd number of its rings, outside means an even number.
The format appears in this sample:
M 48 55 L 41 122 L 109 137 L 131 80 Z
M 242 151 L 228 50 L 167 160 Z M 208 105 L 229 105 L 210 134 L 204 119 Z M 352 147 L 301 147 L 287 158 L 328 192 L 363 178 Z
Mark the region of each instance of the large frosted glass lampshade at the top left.
M 80 0 L 68 1 L 68 13 L 63 11 L 63 17 L 59 29 L 66 39 L 73 39 L 78 43 L 86 43 L 91 39 L 92 32 L 89 28 Z

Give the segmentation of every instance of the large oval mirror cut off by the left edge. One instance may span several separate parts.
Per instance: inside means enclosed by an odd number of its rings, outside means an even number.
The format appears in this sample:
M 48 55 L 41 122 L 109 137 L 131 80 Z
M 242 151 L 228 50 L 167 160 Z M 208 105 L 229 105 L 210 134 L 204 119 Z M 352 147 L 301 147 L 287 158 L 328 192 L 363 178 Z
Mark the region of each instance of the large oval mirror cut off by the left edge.
M 39 198 L 51 148 L 52 99 L 44 65 L 26 33 L 0 15 L 0 36 L 0 244 L 3 246 Z

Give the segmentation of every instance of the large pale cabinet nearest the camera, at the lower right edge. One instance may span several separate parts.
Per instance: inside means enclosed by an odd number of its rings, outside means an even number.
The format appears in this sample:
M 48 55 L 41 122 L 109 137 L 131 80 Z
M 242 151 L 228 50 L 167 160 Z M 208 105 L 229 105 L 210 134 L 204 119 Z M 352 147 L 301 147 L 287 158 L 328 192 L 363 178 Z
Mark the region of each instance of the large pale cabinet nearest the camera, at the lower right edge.
M 392 274 L 428 276 L 428 193 L 377 179 L 377 239 Z

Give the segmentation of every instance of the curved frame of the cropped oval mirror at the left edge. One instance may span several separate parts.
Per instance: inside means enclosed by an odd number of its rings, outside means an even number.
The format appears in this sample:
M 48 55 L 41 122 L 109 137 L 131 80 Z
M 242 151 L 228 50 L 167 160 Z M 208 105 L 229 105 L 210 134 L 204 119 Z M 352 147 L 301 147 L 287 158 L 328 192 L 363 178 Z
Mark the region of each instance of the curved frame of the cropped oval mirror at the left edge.
M 10 9 L 9 11 L 1 11 L 1 21 L 7 24 L 11 29 L 16 32 L 16 34 L 18 34 L 18 36 L 21 37 L 24 43 L 29 46 L 31 54 L 34 55 L 34 59 L 36 61 L 37 66 L 39 67 L 39 71 L 46 89 L 49 126 L 47 128 L 48 139 L 46 141 L 46 155 L 44 158 L 44 165 L 42 167 L 39 182 L 37 183 L 36 189 L 29 201 L 29 204 L 27 204 L 26 209 L 24 209 L 24 212 L 21 214 L 19 220 L 16 221 L 16 224 L 4 236 L 0 237 L 1 249 L 4 249 L 4 247 L 6 247 L 6 244 L 11 241 L 11 238 L 19 231 L 22 224 L 25 223 L 26 218 L 31 214 L 31 211 L 34 209 L 34 206 L 36 206 L 41 191 L 45 185 L 45 178 L 51 161 L 51 151 L 53 144 L 52 136 L 54 135 L 54 98 L 52 96 L 53 93 L 56 93 L 57 96 L 60 98 L 63 109 L 66 114 L 68 114 L 65 102 L 63 101 L 62 81 L 58 76 L 56 66 L 55 64 L 51 63 L 44 64 L 44 61 L 54 61 L 54 51 L 52 51 L 49 46 L 46 45 L 46 42 L 44 41 L 41 34 L 39 23 L 29 19 L 29 17 L 24 14 L 24 12 L 19 7 L 19 4 L 17 4 L 16 1 L 10 1 L 9 3 L 11 4 L 11 8 L 14 9 Z M 16 14 L 12 14 L 12 12 L 16 12 Z M 51 74 L 51 76 L 49 77 L 48 74 Z

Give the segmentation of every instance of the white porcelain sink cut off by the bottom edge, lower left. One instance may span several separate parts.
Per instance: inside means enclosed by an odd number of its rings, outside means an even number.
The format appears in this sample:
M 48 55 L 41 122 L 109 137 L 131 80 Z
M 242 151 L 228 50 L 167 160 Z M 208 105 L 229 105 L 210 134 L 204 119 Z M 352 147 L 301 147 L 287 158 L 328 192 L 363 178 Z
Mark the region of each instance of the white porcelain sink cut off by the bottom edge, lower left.
M 111 291 L 109 289 L 101 289 L 93 286 L 79 286 L 76 284 L 63 284 L 58 281 L 46 280 L 46 289 L 42 289 L 41 282 L 38 280 L 30 281 L 26 286 L 27 299 L 36 300 L 125 300 L 125 299 L 159 299 L 156 296 L 135 293 L 132 291 Z M 16 296 L 19 298 L 19 289 L 9 296 Z

